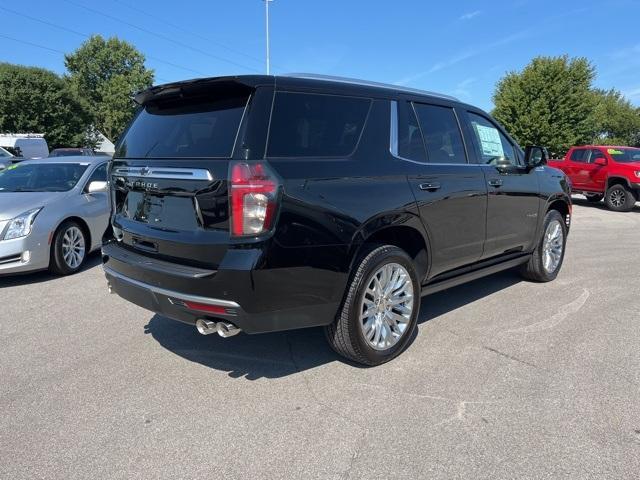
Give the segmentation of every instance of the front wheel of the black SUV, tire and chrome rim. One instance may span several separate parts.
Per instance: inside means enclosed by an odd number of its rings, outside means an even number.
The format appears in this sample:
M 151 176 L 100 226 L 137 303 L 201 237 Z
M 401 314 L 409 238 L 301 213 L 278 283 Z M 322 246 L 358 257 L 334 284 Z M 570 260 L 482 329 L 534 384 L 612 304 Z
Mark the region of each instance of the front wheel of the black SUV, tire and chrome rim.
M 567 225 L 557 210 L 549 210 L 544 217 L 542 238 L 531 258 L 522 266 L 521 274 L 527 280 L 550 282 L 558 276 L 564 261 L 567 243 Z

